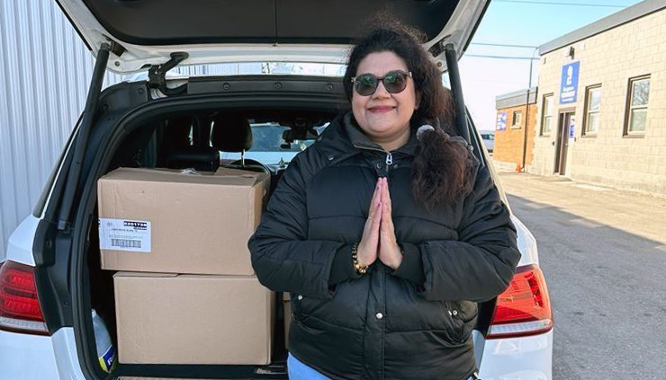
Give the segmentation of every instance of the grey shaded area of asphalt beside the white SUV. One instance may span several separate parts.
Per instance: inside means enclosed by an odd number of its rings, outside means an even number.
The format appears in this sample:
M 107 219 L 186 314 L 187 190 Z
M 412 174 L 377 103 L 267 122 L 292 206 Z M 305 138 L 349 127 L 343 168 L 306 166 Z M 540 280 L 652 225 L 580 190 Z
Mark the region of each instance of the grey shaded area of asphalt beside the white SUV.
M 664 378 L 663 244 L 509 195 L 554 307 L 554 380 Z

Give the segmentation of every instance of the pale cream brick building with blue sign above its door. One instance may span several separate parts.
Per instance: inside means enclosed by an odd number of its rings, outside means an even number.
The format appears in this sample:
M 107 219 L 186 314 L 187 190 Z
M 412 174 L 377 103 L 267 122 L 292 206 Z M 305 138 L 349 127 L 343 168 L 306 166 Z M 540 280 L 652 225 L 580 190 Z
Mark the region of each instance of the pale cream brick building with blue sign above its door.
M 666 194 L 666 3 L 635 4 L 540 56 L 527 170 Z

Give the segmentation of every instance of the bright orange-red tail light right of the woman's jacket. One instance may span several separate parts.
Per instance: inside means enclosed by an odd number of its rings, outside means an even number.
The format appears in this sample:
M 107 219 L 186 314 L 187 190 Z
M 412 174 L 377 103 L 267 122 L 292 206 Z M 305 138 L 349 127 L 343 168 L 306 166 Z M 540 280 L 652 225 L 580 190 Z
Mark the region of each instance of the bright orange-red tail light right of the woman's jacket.
M 553 310 L 544 273 L 536 265 L 518 267 L 497 300 L 486 339 L 517 338 L 553 329 Z

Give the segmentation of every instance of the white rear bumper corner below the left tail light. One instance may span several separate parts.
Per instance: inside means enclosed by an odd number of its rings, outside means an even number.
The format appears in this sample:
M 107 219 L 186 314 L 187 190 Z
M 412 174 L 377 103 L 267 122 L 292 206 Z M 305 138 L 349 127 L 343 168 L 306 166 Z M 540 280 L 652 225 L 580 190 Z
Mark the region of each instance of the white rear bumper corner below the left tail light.
M 63 328 L 50 337 L 0 331 L 0 379 L 85 380 L 74 330 Z

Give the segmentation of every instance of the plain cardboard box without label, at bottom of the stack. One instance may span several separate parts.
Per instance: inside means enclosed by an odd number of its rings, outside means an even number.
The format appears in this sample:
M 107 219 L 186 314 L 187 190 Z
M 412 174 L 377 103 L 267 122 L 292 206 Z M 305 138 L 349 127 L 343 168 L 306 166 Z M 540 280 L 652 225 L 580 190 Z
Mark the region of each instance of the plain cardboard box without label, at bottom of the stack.
M 275 294 L 255 276 L 118 272 L 113 284 L 121 363 L 271 361 Z

